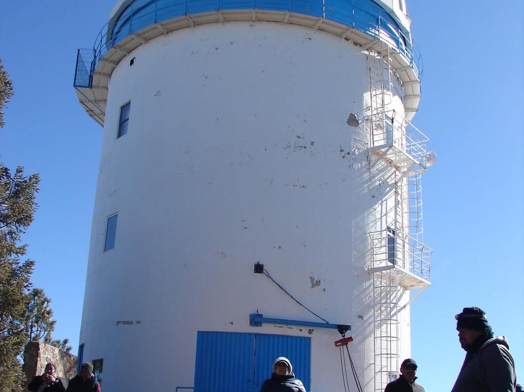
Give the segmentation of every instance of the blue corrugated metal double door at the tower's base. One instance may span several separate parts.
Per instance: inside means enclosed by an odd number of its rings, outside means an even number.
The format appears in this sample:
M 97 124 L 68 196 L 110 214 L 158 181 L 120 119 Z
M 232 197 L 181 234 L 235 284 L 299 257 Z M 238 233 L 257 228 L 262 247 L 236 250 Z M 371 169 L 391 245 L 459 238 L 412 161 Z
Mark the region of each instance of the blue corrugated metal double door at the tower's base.
M 309 337 L 198 332 L 195 392 L 258 391 L 279 356 L 289 358 L 306 390 L 310 384 Z

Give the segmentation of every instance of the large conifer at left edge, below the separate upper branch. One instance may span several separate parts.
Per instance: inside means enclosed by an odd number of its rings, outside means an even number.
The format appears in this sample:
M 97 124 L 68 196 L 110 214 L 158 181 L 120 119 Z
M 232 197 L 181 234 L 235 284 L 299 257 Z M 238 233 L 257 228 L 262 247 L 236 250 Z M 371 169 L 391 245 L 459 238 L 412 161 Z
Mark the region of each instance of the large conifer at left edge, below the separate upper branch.
M 21 234 L 33 220 L 39 175 L 24 175 L 18 167 L 11 173 L 0 163 L 0 390 L 19 391 L 23 374 L 18 355 L 27 342 L 25 319 L 27 291 L 34 262 L 21 261 L 27 245 Z

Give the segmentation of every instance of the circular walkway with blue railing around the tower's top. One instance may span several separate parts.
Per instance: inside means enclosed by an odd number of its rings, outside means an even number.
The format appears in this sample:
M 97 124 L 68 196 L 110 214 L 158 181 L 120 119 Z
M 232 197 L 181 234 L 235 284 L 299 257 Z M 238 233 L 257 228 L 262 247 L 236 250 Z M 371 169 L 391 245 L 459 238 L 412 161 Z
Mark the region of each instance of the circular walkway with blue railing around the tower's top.
M 200 24 L 277 21 L 335 34 L 364 50 L 391 49 L 402 81 L 406 116 L 418 111 L 422 58 L 408 28 L 373 0 L 133 0 L 100 31 L 92 49 L 79 49 L 74 87 L 86 112 L 105 121 L 108 82 L 119 61 L 147 41 Z

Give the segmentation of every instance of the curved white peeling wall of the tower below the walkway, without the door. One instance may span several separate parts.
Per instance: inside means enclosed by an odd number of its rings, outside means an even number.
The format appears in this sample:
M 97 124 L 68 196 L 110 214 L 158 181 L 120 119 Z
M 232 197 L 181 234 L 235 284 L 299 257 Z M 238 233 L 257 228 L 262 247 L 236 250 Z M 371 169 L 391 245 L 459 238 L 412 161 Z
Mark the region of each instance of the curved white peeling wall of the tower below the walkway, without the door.
M 370 152 L 382 63 L 329 32 L 260 20 L 180 29 L 118 62 L 80 334 L 83 360 L 103 358 L 103 389 L 192 387 L 198 333 L 226 332 L 304 337 L 309 389 L 342 390 L 341 335 L 293 320 L 351 325 L 364 390 L 383 388 L 370 233 L 401 228 L 408 194 L 407 178 Z M 401 82 L 386 74 L 381 102 L 402 118 Z M 254 273 L 257 262 L 274 281 Z M 250 325 L 257 312 L 290 322 Z M 389 349 L 407 357 L 409 306 L 395 323 Z

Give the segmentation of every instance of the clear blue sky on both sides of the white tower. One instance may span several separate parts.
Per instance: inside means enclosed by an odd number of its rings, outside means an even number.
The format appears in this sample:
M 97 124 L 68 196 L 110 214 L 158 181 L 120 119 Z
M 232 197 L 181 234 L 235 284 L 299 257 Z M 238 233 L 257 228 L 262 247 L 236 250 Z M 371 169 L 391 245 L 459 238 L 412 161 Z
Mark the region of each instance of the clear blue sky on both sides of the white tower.
M 115 0 L 0 0 L 0 58 L 15 95 L 0 160 L 41 175 L 23 241 L 52 299 L 55 339 L 77 351 L 102 128 L 73 89 Z M 454 315 L 484 309 L 524 382 L 524 2 L 407 0 L 422 52 L 416 125 L 436 164 L 422 176 L 431 287 L 411 306 L 412 357 L 427 392 L 451 390 L 464 359 Z

